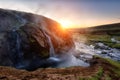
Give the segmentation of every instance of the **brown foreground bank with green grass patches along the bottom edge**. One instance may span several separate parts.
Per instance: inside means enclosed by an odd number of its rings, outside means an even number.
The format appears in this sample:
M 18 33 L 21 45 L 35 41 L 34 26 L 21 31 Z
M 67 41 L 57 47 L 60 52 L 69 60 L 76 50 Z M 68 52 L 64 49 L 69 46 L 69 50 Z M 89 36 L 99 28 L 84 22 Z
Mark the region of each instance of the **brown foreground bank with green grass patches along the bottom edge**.
M 120 63 L 94 56 L 90 67 L 39 68 L 36 71 L 0 67 L 1 80 L 119 80 Z

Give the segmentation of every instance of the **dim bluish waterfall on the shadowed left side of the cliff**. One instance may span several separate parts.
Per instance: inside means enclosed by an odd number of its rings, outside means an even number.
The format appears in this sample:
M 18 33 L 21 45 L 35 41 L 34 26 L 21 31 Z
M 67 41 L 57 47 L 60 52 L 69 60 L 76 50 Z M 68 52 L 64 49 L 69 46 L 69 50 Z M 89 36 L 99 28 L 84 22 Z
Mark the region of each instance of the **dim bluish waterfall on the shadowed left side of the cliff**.
M 23 62 L 23 52 L 21 50 L 21 38 L 18 32 L 15 30 L 10 32 L 8 41 L 10 41 L 9 50 L 12 52 L 9 54 L 10 60 L 16 68 L 21 67 Z

